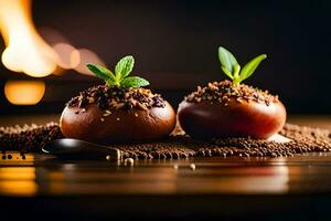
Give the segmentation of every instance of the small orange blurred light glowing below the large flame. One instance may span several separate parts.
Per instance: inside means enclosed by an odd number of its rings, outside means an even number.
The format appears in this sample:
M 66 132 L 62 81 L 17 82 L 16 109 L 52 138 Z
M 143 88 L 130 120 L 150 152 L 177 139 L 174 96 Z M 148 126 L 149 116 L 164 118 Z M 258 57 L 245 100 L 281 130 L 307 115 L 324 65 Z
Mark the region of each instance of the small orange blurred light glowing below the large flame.
M 14 105 L 34 105 L 44 96 L 45 83 L 42 81 L 8 81 L 4 84 L 6 98 Z

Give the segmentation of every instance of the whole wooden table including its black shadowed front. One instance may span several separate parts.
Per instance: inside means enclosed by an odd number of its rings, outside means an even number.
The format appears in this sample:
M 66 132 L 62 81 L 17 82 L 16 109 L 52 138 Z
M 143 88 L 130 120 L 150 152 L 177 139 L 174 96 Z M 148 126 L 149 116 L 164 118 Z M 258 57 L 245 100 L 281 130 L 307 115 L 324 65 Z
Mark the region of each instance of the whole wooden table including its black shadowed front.
M 328 128 L 331 118 L 321 123 Z M 3 220 L 328 220 L 330 193 L 331 152 L 134 165 L 38 154 L 23 160 L 15 152 L 11 160 L 0 160 Z

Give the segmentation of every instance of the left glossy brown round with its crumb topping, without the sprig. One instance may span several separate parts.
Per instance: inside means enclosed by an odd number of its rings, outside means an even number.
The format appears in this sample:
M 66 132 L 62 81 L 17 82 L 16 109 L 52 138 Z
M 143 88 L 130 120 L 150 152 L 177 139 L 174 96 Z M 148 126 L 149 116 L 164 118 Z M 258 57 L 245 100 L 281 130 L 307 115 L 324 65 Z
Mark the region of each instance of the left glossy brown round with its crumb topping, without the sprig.
M 147 141 L 169 136 L 175 113 L 150 90 L 99 85 L 67 103 L 60 126 L 65 137 L 97 144 Z

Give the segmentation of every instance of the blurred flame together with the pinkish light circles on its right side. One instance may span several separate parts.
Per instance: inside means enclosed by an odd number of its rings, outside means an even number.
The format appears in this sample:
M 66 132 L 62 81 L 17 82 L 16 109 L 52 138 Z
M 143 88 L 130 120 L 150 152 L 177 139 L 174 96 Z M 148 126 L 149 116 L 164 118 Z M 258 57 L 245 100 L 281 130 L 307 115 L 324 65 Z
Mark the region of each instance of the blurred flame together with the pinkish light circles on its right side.
M 0 32 L 7 46 L 1 60 L 7 69 L 43 77 L 68 69 L 89 75 L 86 63 L 103 64 L 94 52 L 75 49 L 57 31 L 43 31 L 52 46 L 35 30 L 31 0 L 0 0 Z

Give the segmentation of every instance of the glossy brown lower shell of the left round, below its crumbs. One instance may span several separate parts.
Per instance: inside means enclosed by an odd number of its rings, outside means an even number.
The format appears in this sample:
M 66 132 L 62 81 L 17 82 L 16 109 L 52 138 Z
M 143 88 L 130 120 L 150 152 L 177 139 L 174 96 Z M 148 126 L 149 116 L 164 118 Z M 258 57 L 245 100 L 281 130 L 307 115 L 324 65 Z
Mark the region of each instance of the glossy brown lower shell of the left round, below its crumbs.
M 60 126 L 65 137 L 104 145 L 136 143 L 167 137 L 175 126 L 175 113 L 168 102 L 164 107 L 147 110 L 110 109 L 109 116 L 104 116 L 105 110 L 95 104 L 85 108 L 86 112 L 78 107 L 64 108 Z

